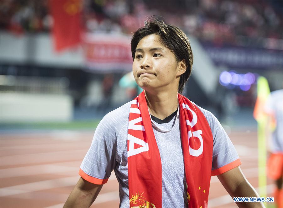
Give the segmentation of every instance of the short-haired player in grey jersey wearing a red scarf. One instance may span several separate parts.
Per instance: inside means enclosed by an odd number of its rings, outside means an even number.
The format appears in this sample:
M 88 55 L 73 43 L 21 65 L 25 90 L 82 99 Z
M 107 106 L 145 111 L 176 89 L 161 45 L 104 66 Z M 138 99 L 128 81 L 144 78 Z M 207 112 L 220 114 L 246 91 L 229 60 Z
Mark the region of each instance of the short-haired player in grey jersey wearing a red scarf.
M 100 121 L 64 207 L 89 207 L 112 170 L 120 207 L 207 207 L 213 175 L 231 197 L 258 197 L 219 121 L 181 95 L 193 64 L 185 33 L 149 20 L 134 33 L 131 51 L 144 91 Z

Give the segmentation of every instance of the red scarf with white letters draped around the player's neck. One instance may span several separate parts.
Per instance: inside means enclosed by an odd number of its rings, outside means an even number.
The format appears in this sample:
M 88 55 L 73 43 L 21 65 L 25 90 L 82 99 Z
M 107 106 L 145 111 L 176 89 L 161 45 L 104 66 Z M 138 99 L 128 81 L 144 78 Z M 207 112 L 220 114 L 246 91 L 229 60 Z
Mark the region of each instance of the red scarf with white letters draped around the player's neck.
M 178 101 L 188 207 L 206 208 L 212 166 L 212 132 L 203 113 L 191 101 L 180 94 Z M 130 107 L 128 176 L 130 207 L 162 207 L 161 159 L 144 91 Z

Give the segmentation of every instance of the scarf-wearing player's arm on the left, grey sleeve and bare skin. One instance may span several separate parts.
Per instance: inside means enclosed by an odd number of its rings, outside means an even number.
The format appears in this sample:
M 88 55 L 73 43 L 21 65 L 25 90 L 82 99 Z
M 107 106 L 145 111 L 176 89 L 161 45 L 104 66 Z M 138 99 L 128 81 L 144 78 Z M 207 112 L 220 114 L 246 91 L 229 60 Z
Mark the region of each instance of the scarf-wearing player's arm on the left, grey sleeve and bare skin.
M 90 207 L 103 184 L 107 183 L 117 164 L 116 117 L 113 113 L 108 113 L 97 125 L 91 147 L 80 165 L 80 179 L 64 207 Z

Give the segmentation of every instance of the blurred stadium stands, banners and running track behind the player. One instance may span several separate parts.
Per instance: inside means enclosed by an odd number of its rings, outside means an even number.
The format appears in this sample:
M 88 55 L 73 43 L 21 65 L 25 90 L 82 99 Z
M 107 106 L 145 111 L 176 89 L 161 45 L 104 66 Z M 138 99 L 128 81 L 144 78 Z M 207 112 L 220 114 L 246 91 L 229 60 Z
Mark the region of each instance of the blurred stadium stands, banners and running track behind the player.
M 188 35 L 183 94 L 219 119 L 258 187 L 256 79 L 282 88 L 282 1 L 2 0 L 0 13 L 1 207 L 63 206 L 98 122 L 138 93 L 130 37 L 152 15 Z M 92 207 L 119 206 L 110 179 Z M 217 177 L 208 206 L 236 207 Z

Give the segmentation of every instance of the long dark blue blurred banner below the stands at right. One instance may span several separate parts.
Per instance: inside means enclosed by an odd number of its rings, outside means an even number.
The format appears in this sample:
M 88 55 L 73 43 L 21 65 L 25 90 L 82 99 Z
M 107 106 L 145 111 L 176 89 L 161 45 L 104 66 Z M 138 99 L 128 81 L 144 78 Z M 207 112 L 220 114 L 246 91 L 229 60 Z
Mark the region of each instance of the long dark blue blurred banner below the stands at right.
M 282 50 L 202 44 L 216 65 L 235 68 L 279 68 L 283 65 Z

